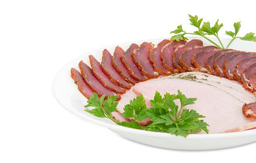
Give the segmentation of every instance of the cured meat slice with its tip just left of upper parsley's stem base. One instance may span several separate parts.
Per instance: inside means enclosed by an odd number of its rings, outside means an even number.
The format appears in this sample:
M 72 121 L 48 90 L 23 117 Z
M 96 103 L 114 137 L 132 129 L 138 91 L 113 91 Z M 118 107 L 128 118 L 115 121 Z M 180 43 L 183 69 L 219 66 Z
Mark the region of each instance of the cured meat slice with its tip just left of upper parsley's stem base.
M 220 51 L 220 49 L 207 49 L 195 54 L 192 58 L 192 64 L 195 66 L 196 71 L 209 72 L 206 68 L 207 59 L 213 56 L 214 53 Z

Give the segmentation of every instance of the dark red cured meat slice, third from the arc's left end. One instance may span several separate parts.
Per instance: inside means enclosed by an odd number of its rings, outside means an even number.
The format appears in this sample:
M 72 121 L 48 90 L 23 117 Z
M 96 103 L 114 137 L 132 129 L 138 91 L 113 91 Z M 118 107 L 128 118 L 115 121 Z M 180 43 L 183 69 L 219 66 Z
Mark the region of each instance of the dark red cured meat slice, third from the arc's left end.
M 97 61 L 92 55 L 89 55 L 92 72 L 96 76 L 96 78 L 104 85 L 104 87 L 115 91 L 118 94 L 125 93 L 125 89 L 119 87 L 114 82 L 111 82 L 107 75 L 101 68 L 100 62 Z

